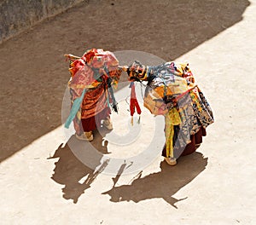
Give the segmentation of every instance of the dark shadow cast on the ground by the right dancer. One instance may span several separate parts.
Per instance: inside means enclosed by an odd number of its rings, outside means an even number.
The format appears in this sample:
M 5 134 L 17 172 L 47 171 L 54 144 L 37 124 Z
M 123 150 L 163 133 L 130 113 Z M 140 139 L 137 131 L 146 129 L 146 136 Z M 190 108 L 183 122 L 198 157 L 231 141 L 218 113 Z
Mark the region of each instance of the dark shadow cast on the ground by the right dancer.
M 167 203 L 177 208 L 178 201 L 186 199 L 175 199 L 174 193 L 187 185 L 198 176 L 207 166 L 207 158 L 201 153 L 195 152 L 181 157 L 176 166 L 170 166 L 165 161 L 160 163 L 160 172 L 142 176 L 142 171 L 135 176 L 130 184 L 115 187 L 116 181 L 113 179 L 113 187 L 102 194 L 109 194 L 110 201 L 134 201 L 139 202 L 145 199 L 162 198 Z

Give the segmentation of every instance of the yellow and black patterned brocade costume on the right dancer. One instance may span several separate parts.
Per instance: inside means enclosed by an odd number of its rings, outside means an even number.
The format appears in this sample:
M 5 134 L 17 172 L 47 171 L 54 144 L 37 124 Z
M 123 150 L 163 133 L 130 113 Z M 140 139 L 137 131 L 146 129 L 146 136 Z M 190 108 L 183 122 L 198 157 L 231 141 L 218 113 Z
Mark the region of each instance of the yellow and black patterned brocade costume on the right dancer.
M 178 158 L 195 152 L 213 123 L 212 109 L 189 64 L 166 62 L 160 66 L 143 66 L 135 61 L 127 70 L 131 80 L 148 81 L 144 107 L 166 120 L 166 146 L 162 155 Z

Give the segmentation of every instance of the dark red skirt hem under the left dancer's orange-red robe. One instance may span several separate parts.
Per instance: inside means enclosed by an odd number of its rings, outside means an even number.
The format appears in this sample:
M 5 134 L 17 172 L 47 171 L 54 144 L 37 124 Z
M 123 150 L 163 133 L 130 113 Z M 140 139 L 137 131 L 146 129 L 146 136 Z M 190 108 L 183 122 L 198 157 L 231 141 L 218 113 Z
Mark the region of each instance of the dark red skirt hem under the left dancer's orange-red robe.
M 97 113 L 95 116 L 92 116 L 90 118 L 82 118 L 81 122 L 82 122 L 84 132 L 96 130 L 97 127 L 101 126 L 102 119 L 109 117 L 110 114 L 111 114 L 111 110 L 109 107 L 107 107 L 107 108 L 104 108 L 102 112 Z

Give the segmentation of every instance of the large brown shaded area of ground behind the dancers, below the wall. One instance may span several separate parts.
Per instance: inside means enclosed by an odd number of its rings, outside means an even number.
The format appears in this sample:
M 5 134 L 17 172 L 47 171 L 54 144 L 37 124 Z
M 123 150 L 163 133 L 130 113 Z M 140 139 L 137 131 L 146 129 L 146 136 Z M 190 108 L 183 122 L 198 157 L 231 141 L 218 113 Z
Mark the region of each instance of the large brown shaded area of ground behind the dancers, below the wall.
M 1 44 L 0 162 L 61 124 L 69 79 L 65 53 L 133 49 L 171 61 L 241 21 L 248 5 L 247 0 L 86 1 Z

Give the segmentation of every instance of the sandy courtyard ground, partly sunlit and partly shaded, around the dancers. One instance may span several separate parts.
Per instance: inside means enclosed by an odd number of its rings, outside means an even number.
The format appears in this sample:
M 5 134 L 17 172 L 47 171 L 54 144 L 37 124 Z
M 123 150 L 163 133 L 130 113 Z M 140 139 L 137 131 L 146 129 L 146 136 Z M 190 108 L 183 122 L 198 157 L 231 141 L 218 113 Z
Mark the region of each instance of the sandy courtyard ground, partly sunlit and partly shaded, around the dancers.
M 91 1 L 1 44 L 1 223 L 255 224 L 255 12 L 255 1 Z M 119 177 L 62 145 L 63 54 L 87 48 L 189 61 L 216 120 L 197 153 Z

